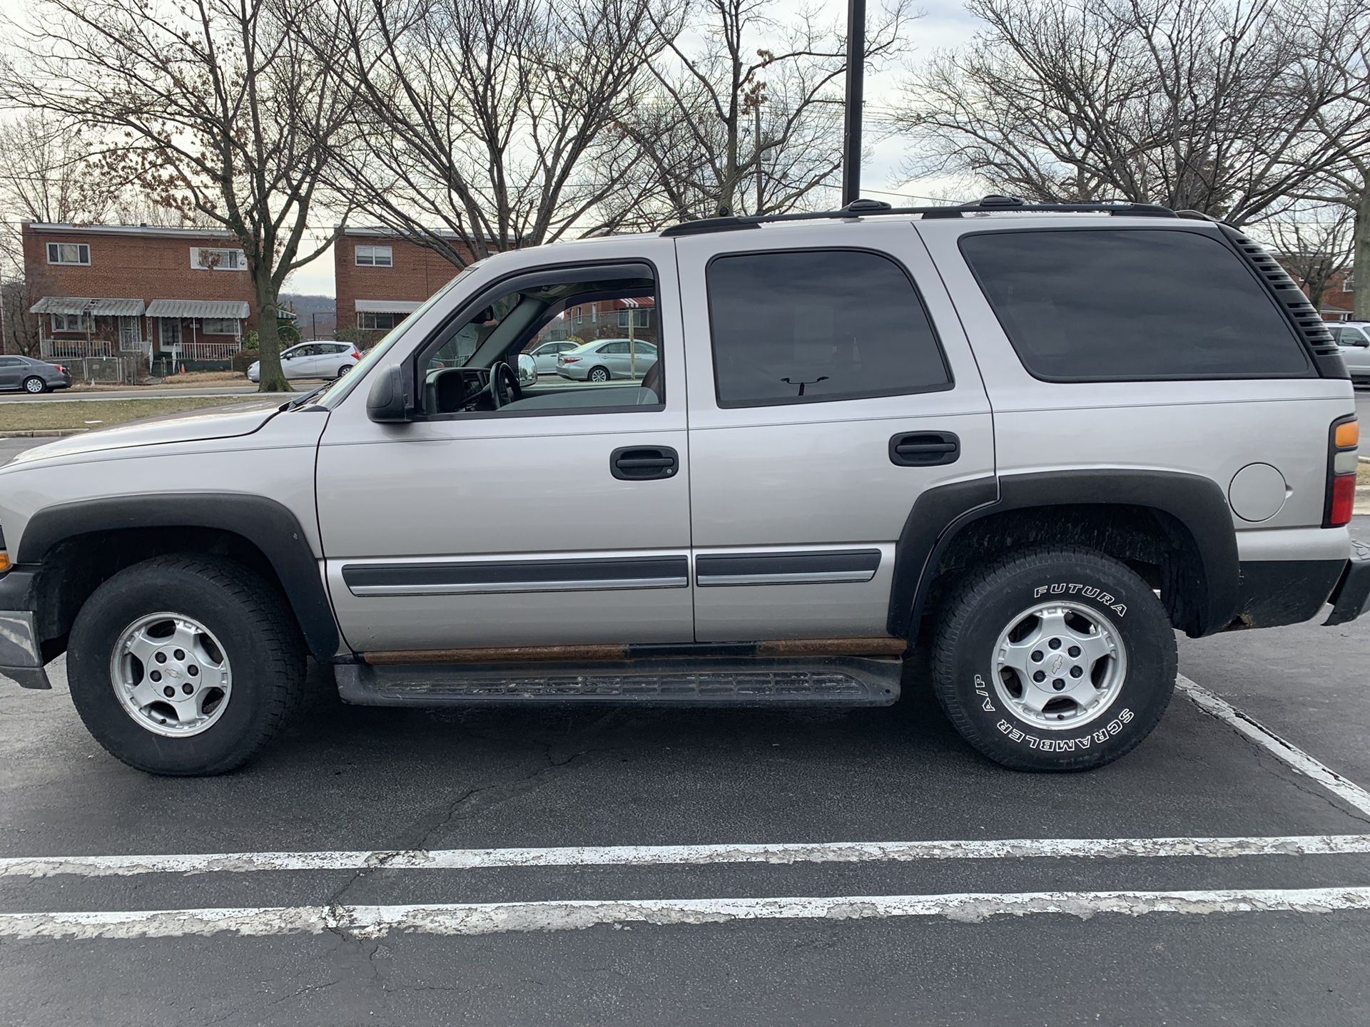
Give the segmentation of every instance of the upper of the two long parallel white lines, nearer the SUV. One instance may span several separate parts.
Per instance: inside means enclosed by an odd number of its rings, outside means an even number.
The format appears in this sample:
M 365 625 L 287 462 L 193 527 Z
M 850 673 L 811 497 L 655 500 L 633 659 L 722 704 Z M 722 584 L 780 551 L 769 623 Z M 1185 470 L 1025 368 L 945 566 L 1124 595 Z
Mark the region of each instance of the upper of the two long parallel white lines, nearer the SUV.
M 910 863 L 1032 857 L 1354 856 L 1370 834 L 1237 838 L 1004 838 L 771 845 L 577 845 L 547 849 L 237 852 L 166 856 L 42 856 L 0 860 L 0 878 L 86 878 L 252 871 L 486 870 L 506 867 L 664 867 L 737 863 Z

